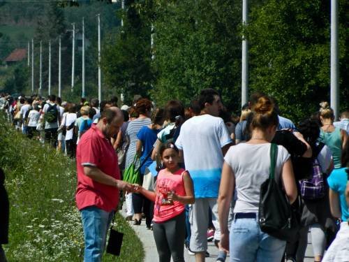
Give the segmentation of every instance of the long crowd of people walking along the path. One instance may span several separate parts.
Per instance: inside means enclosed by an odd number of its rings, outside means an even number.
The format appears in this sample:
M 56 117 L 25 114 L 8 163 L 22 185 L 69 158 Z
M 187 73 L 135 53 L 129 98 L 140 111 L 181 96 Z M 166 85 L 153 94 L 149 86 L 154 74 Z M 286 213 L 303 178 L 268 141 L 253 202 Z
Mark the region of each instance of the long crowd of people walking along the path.
M 349 111 L 340 121 L 327 102 L 295 125 L 271 97 L 255 92 L 231 117 L 214 89 L 185 107 L 131 106 L 51 95 L 0 97 L 0 109 L 28 138 L 77 162 L 77 208 L 84 228 L 84 261 L 101 261 L 119 198 L 126 219 L 154 233 L 159 261 L 195 261 L 218 248 L 216 261 L 304 261 L 310 231 L 315 261 L 349 257 Z M 260 188 L 274 179 L 299 216 L 297 238 L 286 242 L 260 228 Z M 137 183 L 122 180 L 137 170 Z M 123 191 L 121 194 L 119 191 Z M 325 250 L 327 250 L 325 252 Z

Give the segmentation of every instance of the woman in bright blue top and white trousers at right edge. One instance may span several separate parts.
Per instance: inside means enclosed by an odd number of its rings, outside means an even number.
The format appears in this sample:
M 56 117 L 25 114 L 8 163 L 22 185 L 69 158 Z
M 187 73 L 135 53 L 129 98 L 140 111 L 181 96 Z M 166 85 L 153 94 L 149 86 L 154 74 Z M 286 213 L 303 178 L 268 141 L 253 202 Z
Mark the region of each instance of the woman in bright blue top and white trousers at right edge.
M 341 228 L 325 253 L 322 261 L 348 261 L 349 259 L 349 210 L 346 201 L 346 185 L 349 176 L 349 143 L 341 155 L 342 168 L 335 169 L 327 178 L 329 203 L 332 215 L 341 221 Z

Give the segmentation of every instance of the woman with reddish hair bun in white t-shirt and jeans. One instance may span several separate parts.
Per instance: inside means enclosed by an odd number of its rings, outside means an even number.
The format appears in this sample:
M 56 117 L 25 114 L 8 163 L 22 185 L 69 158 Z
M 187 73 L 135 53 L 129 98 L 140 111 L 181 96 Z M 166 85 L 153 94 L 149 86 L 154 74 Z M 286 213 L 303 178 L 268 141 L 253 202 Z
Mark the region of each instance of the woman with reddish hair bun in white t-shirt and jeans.
M 279 118 L 274 103 L 267 96 L 258 99 L 251 114 L 251 139 L 230 147 L 224 157 L 218 196 L 221 246 L 230 251 L 230 261 L 280 262 L 286 242 L 262 232 L 258 224 L 260 186 L 269 177 L 270 141 L 279 126 Z M 282 183 L 286 196 L 293 203 L 297 198 L 297 186 L 290 154 L 282 145 L 277 149 L 275 180 Z M 237 201 L 229 230 L 228 212 L 234 191 Z

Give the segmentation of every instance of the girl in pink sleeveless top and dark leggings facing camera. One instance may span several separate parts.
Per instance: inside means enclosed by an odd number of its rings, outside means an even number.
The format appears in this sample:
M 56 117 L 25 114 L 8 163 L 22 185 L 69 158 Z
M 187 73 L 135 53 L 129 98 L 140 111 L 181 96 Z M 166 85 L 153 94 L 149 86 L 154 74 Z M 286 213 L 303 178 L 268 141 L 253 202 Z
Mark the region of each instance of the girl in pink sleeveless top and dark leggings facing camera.
M 185 205 L 195 201 L 193 181 L 188 171 L 179 168 L 179 150 L 173 143 L 160 147 L 165 168 L 158 173 L 155 192 L 138 185 L 135 190 L 154 201 L 153 232 L 160 262 L 184 262 L 186 234 Z

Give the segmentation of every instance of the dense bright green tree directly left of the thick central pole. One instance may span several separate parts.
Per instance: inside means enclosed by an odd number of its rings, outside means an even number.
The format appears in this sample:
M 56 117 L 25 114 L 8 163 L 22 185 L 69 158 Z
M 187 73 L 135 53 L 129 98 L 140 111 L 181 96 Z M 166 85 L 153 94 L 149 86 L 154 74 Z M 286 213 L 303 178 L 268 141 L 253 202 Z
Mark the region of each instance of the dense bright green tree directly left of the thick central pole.
M 194 99 L 213 87 L 239 108 L 241 1 L 156 1 L 152 96 L 158 103 Z

